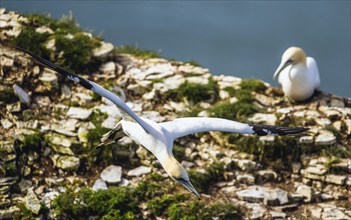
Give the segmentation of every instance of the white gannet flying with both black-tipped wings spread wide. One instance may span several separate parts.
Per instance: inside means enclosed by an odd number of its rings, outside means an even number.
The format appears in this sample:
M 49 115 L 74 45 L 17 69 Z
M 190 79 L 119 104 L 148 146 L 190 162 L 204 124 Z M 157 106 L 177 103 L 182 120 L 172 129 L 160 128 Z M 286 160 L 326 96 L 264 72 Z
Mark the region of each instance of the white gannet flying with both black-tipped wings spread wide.
M 237 132 L 241 134 L 256 135 L 292 135 L 299 134 L 307 128 L 288 128 L 276 127 L 269 125 L 250 125 L 221 118 L 179 118 L 169 122 L 156 123 L 146 118 L 137 116 L 118 96 L 104 89 L 98 84 L 81 78 L 55 64 L 36 56 L 35 54 L 18 48 L 23 52 L 31 55 L 46 67 L 66 76 L 70 80 L 79 83 L 87 89 L 111 100 L 116 104 L 123 114 L 123 119 L 117 123 L 114 129 L 105 134 L 102 138 L 102 144 L 106 145 L 117 141 L 127 134 L 136 143 L 144 146 L 160 161 L 167 174 L 178 183 L 182 184 L 190 192 L 200 197 L 194 186 L 191 184 L 188 173 L 177 161 L 172 153 L 173 142 L 176 138 L 196 132 L 206 131 L 224 131 Z

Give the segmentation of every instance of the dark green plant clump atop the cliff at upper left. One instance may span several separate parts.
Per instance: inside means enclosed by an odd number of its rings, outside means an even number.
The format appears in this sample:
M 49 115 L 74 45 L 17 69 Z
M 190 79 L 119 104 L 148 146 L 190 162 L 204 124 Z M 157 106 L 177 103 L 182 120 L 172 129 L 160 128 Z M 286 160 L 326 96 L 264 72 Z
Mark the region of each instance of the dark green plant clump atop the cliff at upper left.
M 59 20 L 46 15 L 27 16 L 30 25 L 23 25 L 13 43 L 46 59 L 56 58 L 64 68 L 76 72 L 91 73 L 98 70 L 100 60 L 93 56 L 93 49 L 100 45 L 98 37 L 90 37 L 76 24 L 71 16 Z M 38 33 L 37 27 L 46 26 L 54 33 Z M 55 51 L 46 48 L 49 40 L 55 40 Z

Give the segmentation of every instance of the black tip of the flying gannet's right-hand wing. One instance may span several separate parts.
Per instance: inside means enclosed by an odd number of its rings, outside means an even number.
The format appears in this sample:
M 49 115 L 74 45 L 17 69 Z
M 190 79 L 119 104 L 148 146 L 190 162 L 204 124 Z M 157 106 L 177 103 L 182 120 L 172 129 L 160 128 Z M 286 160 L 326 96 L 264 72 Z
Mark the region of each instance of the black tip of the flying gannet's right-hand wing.
M 309 128 L 304 127 L 280 127 L 273 125 L 250 125 L 254 134 L 258 136 L 265 136 L 269 134 L 273 135 L 297 135 L 302 134 L 309 130 Z

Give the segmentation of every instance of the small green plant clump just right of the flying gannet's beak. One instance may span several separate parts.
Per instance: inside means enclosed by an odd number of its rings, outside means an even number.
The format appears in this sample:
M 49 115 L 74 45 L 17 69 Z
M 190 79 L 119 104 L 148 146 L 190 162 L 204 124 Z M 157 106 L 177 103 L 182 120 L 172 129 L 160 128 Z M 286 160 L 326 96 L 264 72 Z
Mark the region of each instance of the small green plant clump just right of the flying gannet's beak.
M 214 183 L 223 180 L 224 171 L 223 163 L 213 163 L 206 168 L 205 173 L 190 171 L 189 178 L 199 192 L 208 192 Z

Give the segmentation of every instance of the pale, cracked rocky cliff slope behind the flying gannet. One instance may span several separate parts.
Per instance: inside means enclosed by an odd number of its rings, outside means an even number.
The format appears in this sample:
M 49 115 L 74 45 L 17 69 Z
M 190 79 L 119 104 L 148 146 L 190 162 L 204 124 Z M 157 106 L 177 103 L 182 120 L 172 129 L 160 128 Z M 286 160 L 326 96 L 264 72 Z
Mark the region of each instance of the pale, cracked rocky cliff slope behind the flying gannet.
M 1 41 L 17 37 L 23 25 L 30 25 L 27 18 L 0 10 Z M 44 26 L 36 31 L 54 33 Z M 55 49 L 54 42 L 47 43 L 50 50 Z M 267 83 L 250 87 L 240 78 L 215 76 L 189 63 L 130 54 L 118 54 L 115 59 L 113 45 L 105 42 L 93 53 L 103 62 L 86 77 L 119 94 L 133 111 L 151 120 L 217 116 L 227 111 L 222 105 L 233 107 L 246 100 L 242 107 L 254 109 L 252 114 L 232 117 L 310 128 L 304 136 L 290 139 L 210 132 L 177 140 L 176 145 L 185 150 L 176 156 L 187 169 L 201 173 L 214 162 L 225 164 L 223 179 L 208 198 L 239 204 L 250 219 L 351 219 L 350 206 L 340 205 L 351 201 L 349 98 L 318 92 L 306 103 L 289 103 L 280 89 Z M 0 140 L 0 218 L 11 218 L 19 211 L 18 203 L 36 215 L 40 203 L 50 209 L 53 199 L 65 190 L 63 185 L 98 191 L 135 185 L 151 172 L 164 174 L 155 158 L 128 137 L 105 151 L 95 150 L 102 134 L 122 116 L 111 102 L 39 67 L 5 44 L 0 56 L 0 134 L 4 137 Z M 211 82 L 216 86 L 211 87 Z M 198 91 L 179 92 L 187 83 L 202 85 L 204 93 L 210 91 L 194 99 L 191 94 Z M 238 94 L 240 90 L 249 92 Z M 217 112 L 214 107 L 222 108 Z

